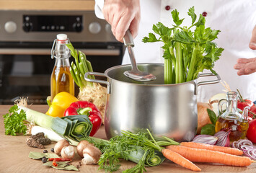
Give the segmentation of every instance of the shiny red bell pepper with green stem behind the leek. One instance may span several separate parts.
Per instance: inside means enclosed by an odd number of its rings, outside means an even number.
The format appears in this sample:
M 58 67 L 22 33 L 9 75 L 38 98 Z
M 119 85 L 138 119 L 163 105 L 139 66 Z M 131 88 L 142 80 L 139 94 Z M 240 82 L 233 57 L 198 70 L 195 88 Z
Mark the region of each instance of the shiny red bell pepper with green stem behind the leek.
M 87 115 L 89 117 L 89 120 L 92 123 L 92 131 L 89 136 L 94 136 L 102 124 L 100 110 L 98 110 L 98 108 L 91 102 L 73 102 L 64 112 L 64 116 L 69 115 Z

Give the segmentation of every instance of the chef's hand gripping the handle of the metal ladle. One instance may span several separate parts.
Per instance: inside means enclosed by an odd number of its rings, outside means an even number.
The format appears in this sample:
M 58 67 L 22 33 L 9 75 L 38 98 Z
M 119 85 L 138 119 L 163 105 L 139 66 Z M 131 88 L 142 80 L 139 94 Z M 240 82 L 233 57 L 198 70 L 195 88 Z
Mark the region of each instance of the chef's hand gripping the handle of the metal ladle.
M 138 35 L 140 0 L 105 0 L 102 12 L 118 41 L 123 42 L 123 36 L 128 29 L 131 30 L 133 38 Z

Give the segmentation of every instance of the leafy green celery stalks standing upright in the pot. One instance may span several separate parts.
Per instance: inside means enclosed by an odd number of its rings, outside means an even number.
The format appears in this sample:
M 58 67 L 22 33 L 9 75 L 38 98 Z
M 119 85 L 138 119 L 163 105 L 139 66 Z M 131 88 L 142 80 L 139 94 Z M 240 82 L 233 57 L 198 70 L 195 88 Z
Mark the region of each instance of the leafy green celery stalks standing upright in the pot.
M 197 15 L 194 7 L 191 7 L 187 14 L 192 19 L 190 27 L 180 27 L 184 19 L 180 19 L 177 9 L 172 11 L 172 19 L 175 25 L 172 28 L 164 26 L 161 22 L 153 25 L 156 35 L 149 33 L 144 37 L 144 43 L 162 42 L 164 45 L 164 83 L 178 84 L 198 78 L 198 74 L 204 69 L 210 70 L 213 74 L 214 62 L 221 56 L 223 48 L 218 48 L 213 40 L 217 38 L 220 30 L 211 30 L 205 27 L 206 19 L 200 14 Z M 191 30 L 195 27 L 195 30 Z M 194 29 L 194 28 L 193 28 Z

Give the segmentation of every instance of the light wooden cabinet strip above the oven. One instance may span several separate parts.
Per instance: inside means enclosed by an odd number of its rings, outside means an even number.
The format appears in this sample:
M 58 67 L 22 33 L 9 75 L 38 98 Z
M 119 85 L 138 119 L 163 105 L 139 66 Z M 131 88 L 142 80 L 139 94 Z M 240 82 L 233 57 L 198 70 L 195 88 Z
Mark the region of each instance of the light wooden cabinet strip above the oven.
M 94 10 L 94 0 L 0 0 L 0 10 Z

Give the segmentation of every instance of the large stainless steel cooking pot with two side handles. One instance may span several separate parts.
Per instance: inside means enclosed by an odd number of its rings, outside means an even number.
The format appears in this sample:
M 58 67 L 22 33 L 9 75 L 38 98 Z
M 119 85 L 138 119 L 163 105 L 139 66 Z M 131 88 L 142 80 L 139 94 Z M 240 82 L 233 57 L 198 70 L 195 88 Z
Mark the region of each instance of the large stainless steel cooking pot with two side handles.
M 105 133 L 107 138 L 118 136 L 121 130 L 137 132 L 149 128 L 156 135 L 168 136 L 176 141 L 191 141 L 198 126 L 197 90 L 213 81 L 188 81 L 182 84 L 164 84 L 164 64 L 138 64 L 141 71 L 156 76 L 156 80 L 138 82 L 123 75 L 130 65 L 108 68 L 105 74 L 88 72 L 87 81 L 107 85 Z M 105 76 L 107 81 L 89 79 L 89 75 Z M 200 74 L 215 76 L 214 74 Z

